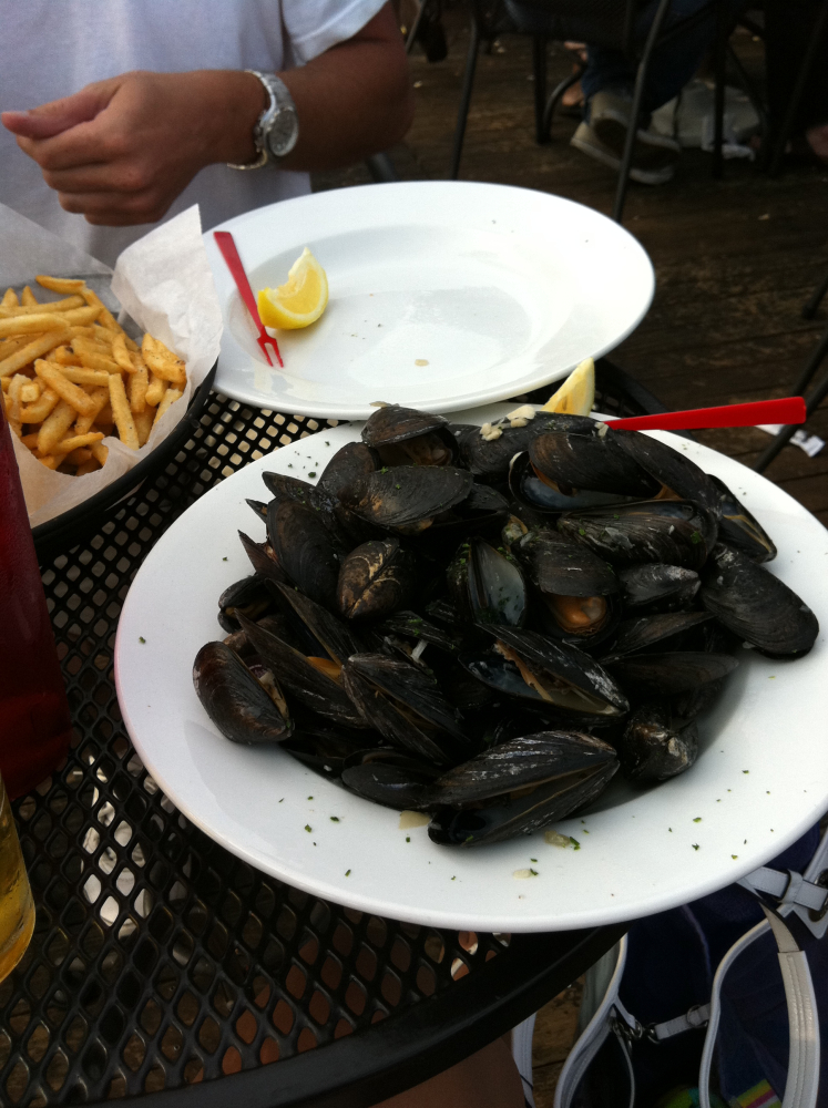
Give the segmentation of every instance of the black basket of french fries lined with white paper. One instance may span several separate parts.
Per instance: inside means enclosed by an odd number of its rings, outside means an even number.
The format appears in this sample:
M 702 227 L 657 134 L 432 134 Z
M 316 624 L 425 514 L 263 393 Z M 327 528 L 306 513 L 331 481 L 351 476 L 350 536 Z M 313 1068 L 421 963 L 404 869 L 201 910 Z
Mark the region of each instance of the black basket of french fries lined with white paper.
M 41 558 L 180 449 L 221 338 L 197 209 L 127 247 L 114 273 L 79 255 L 0 205 L 0 280 L 12 276 L 0 286 L 0 387 Z

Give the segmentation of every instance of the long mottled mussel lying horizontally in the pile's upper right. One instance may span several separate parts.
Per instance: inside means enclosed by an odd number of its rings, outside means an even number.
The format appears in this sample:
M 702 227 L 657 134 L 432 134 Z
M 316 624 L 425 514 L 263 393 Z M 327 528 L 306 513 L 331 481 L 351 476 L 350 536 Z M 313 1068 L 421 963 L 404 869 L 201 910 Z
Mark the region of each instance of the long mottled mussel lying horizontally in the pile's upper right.
M 708 553 L 709 516 L 682 500 L 644 500 L 562 515 L 558 530 L 613 565 L 667 562 L 699 570 Z

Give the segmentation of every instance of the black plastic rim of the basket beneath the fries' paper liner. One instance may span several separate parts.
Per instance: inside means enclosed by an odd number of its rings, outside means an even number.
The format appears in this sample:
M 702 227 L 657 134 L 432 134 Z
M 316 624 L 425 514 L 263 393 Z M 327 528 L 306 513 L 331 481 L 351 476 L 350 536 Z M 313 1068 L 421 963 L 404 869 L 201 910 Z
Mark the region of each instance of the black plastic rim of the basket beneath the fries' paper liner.
M 96 531 L 103 522 L 104 513 L 109 509 L 117 504 L 119 501 L 130 496 L 133 492 L 136 492 L 144 481 L 154 478 L 175 456 L 184 443 L 192 438 L 193 428 L 198 423 L 207 403 L 216 376 L 217 365 L 218 362 L 213 366 L 191 397 L 186 416 L 178 421 L 173 431 L 155 450 L 127 473 L 124 473 L 123 476 L 117 478 L 112 484 L 106 485 L 105 489 L 101 489 L 94 496 L 90 496 L 82 504 L 78 504 L 53 520 L 48 520 L 45 523 L 41 523 L 40 526 L 32 529 L 34 548 L 38 552 L 38 561 L 41 565 L 44 562 L 49 562 L 57 554 L 76 546 Z

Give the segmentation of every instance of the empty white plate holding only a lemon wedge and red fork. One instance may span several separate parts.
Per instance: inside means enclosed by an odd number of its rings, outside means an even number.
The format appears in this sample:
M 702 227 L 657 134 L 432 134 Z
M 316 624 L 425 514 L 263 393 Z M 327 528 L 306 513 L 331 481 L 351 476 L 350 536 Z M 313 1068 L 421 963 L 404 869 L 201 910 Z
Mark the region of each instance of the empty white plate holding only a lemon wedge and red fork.
M 316 324 L 280 331 L 270 369 L 212 232 L 224 312 L 216 388 L 257 408 L 367 419 L 375 400 L 457 411 L 505 400 L 612 350 L 653 298 L 616 223 L 572 201 L 471 182 L 316 193 L 222 224 L 254 293 L 309 246 L 328 274 Z

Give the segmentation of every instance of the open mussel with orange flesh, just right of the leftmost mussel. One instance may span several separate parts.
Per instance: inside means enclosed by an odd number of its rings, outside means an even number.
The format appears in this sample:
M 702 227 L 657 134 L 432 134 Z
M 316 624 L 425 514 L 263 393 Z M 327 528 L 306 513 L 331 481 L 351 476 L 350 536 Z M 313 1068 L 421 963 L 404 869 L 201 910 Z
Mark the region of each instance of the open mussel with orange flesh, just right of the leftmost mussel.
M 310 660 L 276 635 L 241 617 L 242 627 L 265 665 L 299 704 L 345 727 L 366 727 L 359 709 L 339 684 L 340 666 L 330 658 Z

